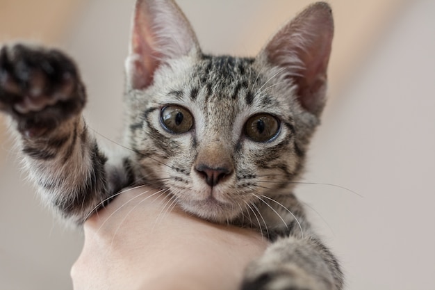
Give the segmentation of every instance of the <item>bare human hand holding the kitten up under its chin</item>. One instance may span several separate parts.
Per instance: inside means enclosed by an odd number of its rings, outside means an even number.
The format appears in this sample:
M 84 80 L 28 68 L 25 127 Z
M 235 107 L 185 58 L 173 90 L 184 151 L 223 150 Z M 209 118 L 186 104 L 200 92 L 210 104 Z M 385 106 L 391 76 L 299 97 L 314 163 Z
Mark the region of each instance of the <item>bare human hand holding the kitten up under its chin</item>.
M 268 241 L 172 207 L 156 190 L 140 187 L 91 216 L 71 271 L 74 289 L 238 289 L 243 269 Z

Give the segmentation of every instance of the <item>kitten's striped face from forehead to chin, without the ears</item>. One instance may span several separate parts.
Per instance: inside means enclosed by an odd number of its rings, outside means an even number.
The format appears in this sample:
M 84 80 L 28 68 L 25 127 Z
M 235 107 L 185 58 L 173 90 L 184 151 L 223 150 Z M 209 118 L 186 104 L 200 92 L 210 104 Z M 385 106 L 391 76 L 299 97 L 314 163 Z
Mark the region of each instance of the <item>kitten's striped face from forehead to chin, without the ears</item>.
M 289 188 L 304 155 L 293 91 L 279 70 L 254 59 L 172 61 L 131 108 L 131 145 L 147 182 L 169 189 L 186 211 L 218 222 Z

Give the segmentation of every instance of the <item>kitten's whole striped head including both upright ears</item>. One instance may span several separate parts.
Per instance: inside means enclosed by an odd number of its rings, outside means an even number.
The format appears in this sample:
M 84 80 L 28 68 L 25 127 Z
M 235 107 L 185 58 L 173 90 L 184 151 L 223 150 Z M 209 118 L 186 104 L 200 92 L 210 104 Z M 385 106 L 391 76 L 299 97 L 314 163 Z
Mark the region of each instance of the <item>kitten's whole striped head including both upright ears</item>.
M 224 222 L 289 193 L 325 105 L 334 24 L 314 3 L 255 58 L 204 54 L 174 1 L 139 0 L 126 60 L 126 142 L 144 182 Z

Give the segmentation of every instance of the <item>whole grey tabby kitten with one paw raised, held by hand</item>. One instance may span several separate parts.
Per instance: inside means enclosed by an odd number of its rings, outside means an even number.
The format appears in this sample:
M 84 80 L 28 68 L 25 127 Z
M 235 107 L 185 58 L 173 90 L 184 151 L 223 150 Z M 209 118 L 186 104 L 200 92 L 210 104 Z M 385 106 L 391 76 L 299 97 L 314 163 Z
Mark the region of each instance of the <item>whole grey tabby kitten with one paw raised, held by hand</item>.
M 0 110 L 24 162 L 61 216 L 85 221 L 126 186 L 163 188 L 215 223 L 272 241 L 241 289 L 342 289 L 338 261 L 293 187 L 325 104 L 334 24 L 314 3 L 256 58 L 211 56 L 173 1 L 138 0 L 126 59 L 126 154 L 103 152 L 81 115 L 85 87 L 56 49 L 0 50 Z

